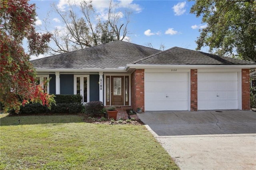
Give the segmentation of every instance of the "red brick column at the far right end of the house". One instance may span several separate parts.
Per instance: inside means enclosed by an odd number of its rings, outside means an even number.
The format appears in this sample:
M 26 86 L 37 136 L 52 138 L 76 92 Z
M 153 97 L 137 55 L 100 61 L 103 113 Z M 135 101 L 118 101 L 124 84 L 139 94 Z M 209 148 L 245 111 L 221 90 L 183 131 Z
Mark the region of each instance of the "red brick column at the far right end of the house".
M 242 69 L 242 110 L 250 110 L 250 70 Z

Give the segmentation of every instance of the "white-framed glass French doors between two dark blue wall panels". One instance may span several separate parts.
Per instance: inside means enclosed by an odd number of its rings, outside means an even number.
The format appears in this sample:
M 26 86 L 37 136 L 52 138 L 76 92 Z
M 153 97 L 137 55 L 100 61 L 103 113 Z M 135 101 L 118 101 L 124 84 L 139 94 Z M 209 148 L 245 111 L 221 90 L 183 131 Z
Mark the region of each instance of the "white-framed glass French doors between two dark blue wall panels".
M 74 95 L 80 94 L 83 102 L 90 101 L 89 97 L 89 75 L 74 75 Z

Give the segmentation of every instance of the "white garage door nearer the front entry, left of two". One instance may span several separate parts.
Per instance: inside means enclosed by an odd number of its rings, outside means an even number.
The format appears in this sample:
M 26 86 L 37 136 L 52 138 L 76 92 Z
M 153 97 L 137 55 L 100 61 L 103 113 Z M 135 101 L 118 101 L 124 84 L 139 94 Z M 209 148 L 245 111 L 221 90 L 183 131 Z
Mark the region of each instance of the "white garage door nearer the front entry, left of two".
M 145 73 L 145 110 L 188 110 L 188 73 Z

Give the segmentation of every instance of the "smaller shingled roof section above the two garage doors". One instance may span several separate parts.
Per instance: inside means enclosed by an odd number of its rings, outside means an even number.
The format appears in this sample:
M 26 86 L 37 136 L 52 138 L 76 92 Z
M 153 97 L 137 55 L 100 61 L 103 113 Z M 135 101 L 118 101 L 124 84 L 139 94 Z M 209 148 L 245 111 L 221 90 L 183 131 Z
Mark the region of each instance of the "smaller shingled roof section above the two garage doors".
M 165 51 L 145 57 L 144 59 L 135 61 L 134 64 L 254 65 L 256 63 L 180 47 L 172 47 Z

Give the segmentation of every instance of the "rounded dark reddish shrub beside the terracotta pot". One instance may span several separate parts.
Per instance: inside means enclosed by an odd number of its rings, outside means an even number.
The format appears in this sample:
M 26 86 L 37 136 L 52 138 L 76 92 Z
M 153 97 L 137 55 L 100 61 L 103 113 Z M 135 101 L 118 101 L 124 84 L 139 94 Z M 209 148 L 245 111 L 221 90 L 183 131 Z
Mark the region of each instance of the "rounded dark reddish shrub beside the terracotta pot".
M 91 101 L 86 104 L 86 113 L 89 115 L 99 115 L 102 113 L 104 105 L 101 101 Z

